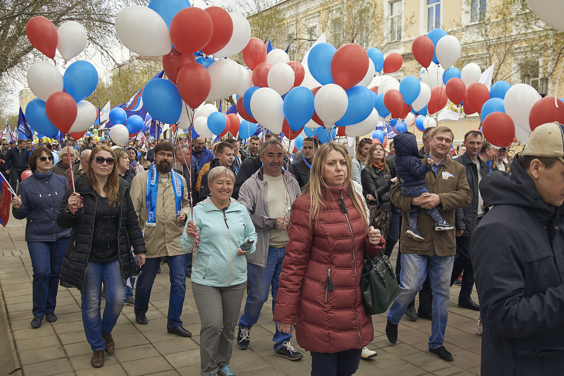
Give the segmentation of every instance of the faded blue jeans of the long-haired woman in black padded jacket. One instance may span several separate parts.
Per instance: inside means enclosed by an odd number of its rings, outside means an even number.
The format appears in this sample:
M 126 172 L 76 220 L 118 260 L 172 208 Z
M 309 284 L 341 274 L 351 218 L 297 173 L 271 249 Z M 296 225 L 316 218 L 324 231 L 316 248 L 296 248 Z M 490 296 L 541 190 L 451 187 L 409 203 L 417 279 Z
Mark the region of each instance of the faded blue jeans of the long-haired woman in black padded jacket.
M 106 304 L 100 318 L 102 282 Z M 82 290 L 82 324 L 92 351 L 105 349 L 103 334 L 112 333 L 125 304 L 125 281 L 120 260 L 110 263 L 88 263 Z

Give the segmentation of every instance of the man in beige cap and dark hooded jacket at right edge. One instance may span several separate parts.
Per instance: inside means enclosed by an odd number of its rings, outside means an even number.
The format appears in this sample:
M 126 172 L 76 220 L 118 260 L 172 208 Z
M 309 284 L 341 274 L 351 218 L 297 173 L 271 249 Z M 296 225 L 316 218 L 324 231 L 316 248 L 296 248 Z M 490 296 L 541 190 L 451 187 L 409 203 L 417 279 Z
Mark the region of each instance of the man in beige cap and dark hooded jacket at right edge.
M 483 319 L 482 376 L 556 375 L 564 368 L 564 126 L 540 125 L 480 191 L 493 206 L 470 255 Z

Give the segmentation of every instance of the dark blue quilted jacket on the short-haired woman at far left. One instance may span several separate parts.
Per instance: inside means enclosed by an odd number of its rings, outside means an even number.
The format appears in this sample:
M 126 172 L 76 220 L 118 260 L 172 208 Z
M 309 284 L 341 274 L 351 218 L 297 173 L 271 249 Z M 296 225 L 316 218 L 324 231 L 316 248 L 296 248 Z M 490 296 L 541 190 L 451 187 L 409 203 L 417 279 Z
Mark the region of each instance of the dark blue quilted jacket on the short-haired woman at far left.
M 27 218 L 26 242 L 55 242 L 70 236 L 69 229 L 57 224 L 57 215 L 68 189 L 64 176 L 51 173 L 49 176 L 33 174 L 20 182 L 17 195 L 21 196 L 21 208 L 12 208 L 16 219 Z

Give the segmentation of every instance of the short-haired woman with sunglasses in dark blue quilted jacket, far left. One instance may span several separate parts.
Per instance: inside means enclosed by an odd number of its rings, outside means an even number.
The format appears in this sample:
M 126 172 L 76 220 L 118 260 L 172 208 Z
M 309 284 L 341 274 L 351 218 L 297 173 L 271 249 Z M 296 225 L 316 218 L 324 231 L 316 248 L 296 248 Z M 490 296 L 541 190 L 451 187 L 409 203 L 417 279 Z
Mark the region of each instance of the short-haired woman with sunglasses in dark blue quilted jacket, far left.
M 29 157 L 33 174 L 20 182 L 18 195 L 12 198 L 14 217 L 27 218 L 25 241 L 33 266 L 33 328 L 41 326 L 43 317 L 48 322 L 57 321 L 59 270 L 70 236 L 69 230 L 56 223 L 68 182 L 51 171 L 53 159 L 45 146 L 33 150 Z

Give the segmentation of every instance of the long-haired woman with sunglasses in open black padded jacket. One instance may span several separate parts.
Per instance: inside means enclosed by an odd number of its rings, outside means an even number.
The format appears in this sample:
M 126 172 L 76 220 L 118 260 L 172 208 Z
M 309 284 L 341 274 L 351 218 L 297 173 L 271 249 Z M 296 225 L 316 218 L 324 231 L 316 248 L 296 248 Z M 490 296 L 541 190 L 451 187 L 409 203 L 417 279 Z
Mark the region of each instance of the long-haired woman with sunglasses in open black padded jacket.
M 76 180 L 76 193 L 65 193 L 57 217 L 59 226 L 72 228 L 61 281 L 82 292 L 82 323 L 94 351 L 92 367 L 104 365 L 104 351 L 114 352 L 112 329 L 124 307 L 125 281 L 134 264 L 130 244 L 139 266 L 147 252 L 129 187 L 120 181 L 115 161 L 111 148 L 96 146 L 86 173 Z M 106 304 L 100 318 L 102 281 Z

